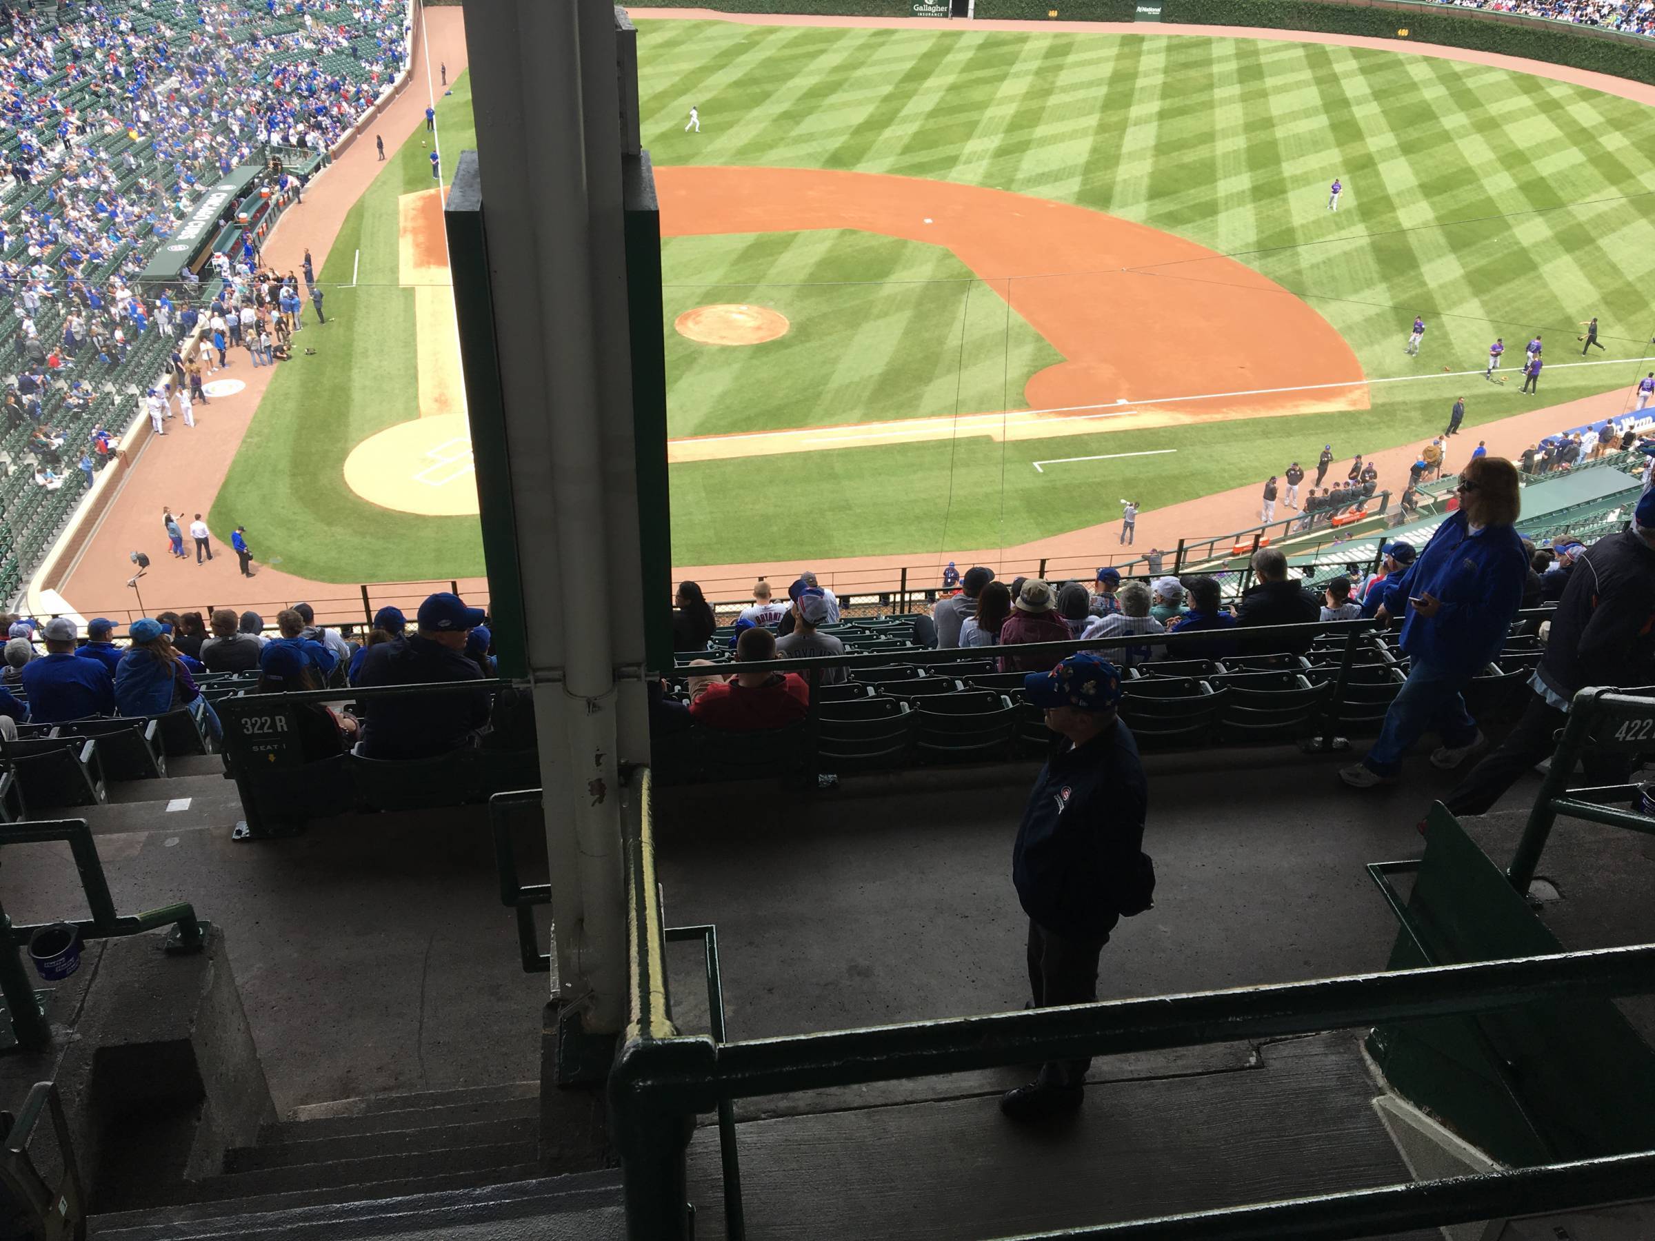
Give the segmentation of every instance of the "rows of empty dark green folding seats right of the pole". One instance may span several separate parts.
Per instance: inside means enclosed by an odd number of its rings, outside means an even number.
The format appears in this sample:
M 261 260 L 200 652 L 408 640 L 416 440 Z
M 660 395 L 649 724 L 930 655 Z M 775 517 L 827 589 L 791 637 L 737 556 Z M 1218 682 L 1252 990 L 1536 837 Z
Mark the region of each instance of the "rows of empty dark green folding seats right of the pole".
M 910 624 L 905 617 L 890 620 Z M 1519 619 L 1498 662 L 1473 678 L 1466 690 L 1473 715 L 1521 702 L 1541 654 L 1539 642 L 1523 632 L 1533 622 Z M 859 619 L 832 632 L 847 655 L 884 655 L 869 652 L 874 629 Z M 1188 645 L 1202 637 L 1188 635 Z M 1180 657 L 1177 635 L 1170 639 L 1167 659 L 1125 668 L 1120 718 L 1144 751 L 1374 736 L 1408 673 L 1394 630 L 1352 634 L 1347 627 L 1319 634 L 1304 655 L 1256 652 L 1216 660 Z M 1099 639 L 1099 645 L 1111 642 L 1119 639 Z M 680 698 L 688 697 L 692 670 L 685 665 L 692 659 L 712 659 L 720 672 L 733 667 L 728 652 L 679 652 L 672 692 Z M 851 776 L 1046 756 L 1054 738 L 1041 710 L 1023 702 L 1024 673 L 996 672 L 995 659 L 962 650 L 914 649 L 909 659 L 854 667 L 849 680 L 818 685 L 814 741 L 809 726 L 741 733 L 740 746 L 728 733 L 700 725 L 655 738 L 657 778 L 672 784 L 791 778 L 811 769 Z

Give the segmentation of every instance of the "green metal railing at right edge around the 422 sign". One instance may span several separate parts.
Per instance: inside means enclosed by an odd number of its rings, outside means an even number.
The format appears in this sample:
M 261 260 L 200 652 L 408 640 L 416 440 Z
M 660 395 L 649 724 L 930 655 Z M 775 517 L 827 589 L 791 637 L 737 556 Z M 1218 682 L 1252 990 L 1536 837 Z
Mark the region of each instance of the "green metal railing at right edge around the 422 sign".
M 1648 693 L 1655 693 L 1655 688 Z M 1529 884 L 1534 882 L 1534 869 L 1539 865 L 1557 816 L 1655 836 L 1655 817 L 1602 804 L 1609 801 L 1630 803 L 1638 794 L 1637 784 L 1569 789 L 1574 764 L 1587 748 L 1612 755 L 1640 755 L 1655 750 L 1655 698 L 1607 688 L 1584 688 L 1574 695 L 1557 753 L 1552 755 L 1551 769 L 1534 798 L 1534 807 L 1523 827 L 1518 850 L 1506 870 L 1506 877 L 1518 892 L 1526 894 Z

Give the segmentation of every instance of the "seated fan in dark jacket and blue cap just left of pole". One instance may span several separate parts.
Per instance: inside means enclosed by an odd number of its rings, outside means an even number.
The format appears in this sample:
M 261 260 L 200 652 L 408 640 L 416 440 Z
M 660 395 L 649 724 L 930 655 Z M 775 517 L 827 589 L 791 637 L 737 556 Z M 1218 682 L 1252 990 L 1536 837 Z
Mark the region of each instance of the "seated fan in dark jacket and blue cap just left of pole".
M 465 642 L 485 619 L 483 609 L 467 607 L 457 594 L 429 596 L 419 606 L 412 634 L 367 649 L 356 683 L 369 688 L 482 680 L 477 664 L 465 655 Z M 483 688 L 364 698 L 362 707 L 362 740 L 356 751 L 364 758 L 445 755 L 473 745 L 477 730 L 488 723 Z

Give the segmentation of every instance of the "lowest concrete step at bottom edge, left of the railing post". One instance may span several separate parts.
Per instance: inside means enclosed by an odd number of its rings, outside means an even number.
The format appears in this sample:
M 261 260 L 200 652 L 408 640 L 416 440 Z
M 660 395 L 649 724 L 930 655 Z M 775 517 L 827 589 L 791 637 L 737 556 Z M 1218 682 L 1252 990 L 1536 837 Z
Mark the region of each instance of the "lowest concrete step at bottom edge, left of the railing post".
M 228 1180 L 228 1178 L 227 1178 Z M 523 1233 L 518 1224 L 554 1218 L 579 1228 Z M 540 1176 L 538 1168 L 496 1168 L 492 1178 L 453 1173 L 339 1190 L 258 1195 L 94 1216 L 94 1241 L 321 1241 L 414 1234 L 444 1241 L 538 1236 L 621 1241 L 621 1173 Z

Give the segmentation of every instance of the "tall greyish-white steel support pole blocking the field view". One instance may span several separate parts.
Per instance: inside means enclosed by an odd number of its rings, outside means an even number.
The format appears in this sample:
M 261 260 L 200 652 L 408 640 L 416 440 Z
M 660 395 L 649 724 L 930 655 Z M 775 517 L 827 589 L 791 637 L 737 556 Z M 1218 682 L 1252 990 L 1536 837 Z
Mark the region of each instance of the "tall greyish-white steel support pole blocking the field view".
M 626 1021 L 617 764 L 647 761 L 614 8 L 467 0 L 559 996 Z M 622 723 L 624 721 L 624 723 Z

